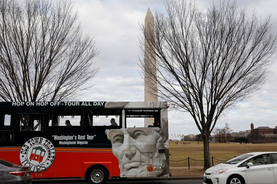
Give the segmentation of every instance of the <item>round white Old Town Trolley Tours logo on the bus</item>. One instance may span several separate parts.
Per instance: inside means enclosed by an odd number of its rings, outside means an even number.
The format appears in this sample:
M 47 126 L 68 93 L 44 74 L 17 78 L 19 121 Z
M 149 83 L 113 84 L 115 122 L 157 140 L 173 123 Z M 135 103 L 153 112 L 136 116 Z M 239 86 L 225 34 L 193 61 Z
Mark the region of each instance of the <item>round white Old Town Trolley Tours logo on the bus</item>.
M 35 137 L 22 146 L 19 159 L 22 166 L 28 166 L 32 172 L 39 173 L 52 165 L 55 155 L 55 148 L 49 140 Z

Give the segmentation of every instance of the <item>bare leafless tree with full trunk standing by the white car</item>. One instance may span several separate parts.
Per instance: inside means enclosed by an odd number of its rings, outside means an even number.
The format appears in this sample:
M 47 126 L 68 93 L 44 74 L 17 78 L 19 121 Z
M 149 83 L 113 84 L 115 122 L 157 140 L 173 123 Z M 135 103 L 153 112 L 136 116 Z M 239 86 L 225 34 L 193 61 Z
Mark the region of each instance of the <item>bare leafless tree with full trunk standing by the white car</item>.
M 274 61 L 276 34 L 270 17 L 262 20 L 255 11 L 248 15 L 236 2 L 214 2 L 207 10 L 193 1 L 165 6 L 165 13 L 155 13 L 155 32 L 141 26 L 138 64 L 141 75 L 153 73 L 144 66 L 144 43 L 151 43 L 145 47 L 151 53 L 147 56 L 156 59 L 157 77 L 149 76 L 157 78 L 159 99 L 191 114 L 203 137 L 208 168 L 209 136 L 217 120 L 261 88 Z

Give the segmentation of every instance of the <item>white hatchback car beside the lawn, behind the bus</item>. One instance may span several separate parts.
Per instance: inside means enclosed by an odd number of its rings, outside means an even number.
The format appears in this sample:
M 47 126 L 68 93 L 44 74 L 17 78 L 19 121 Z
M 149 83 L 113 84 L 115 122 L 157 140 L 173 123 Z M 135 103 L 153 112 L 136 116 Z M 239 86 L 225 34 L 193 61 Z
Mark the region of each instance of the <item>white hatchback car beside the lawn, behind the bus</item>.
M 203 184 L 276 184 L 277 152 L 252 152 L 207 169 Z

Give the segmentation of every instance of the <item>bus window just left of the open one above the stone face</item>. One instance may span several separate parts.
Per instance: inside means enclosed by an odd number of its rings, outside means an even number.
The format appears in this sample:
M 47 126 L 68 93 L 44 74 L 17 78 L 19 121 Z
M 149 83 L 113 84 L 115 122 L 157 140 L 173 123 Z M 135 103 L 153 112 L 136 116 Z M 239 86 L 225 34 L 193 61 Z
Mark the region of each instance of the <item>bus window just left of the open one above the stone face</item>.
M 88 109 L 87 124 L 88 126 L 110 126 L 111 119 L 120 126 L 121 109 Z

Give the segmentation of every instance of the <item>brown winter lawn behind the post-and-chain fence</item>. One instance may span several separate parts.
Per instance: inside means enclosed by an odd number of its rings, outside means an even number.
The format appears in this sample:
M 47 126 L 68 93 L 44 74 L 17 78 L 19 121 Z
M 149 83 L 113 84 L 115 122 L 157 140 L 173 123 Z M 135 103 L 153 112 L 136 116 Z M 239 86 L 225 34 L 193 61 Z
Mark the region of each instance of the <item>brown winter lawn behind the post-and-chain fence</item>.
M 172 177 L 203 176 L 204 152 L 203 142 L 169 141 L 169 166 Z M 190 144 L 183 144 L 183 143 Z M 277 144 L 237 144 L 237 143 L 210 143 L 210 156 L 213 156 L 214 165 L 248 152 L 277 151 Z M 190 157 L 190 169 L 188 169 Z M 212 163 L 212 159 L 211 159 Z

